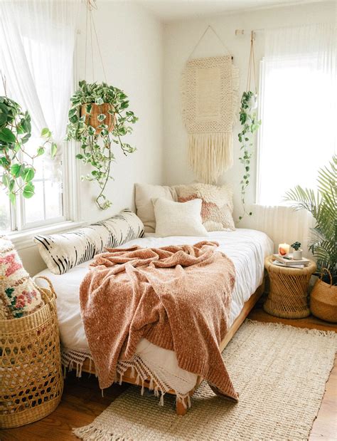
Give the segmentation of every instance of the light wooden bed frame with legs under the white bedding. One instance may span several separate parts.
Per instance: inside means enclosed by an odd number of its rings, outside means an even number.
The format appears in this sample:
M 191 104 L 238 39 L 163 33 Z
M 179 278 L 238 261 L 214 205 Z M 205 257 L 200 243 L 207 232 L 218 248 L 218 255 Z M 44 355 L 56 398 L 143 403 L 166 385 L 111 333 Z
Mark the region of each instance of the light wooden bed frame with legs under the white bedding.
M 221 352 L 225 349 L 225 347 L 231 341 L 231 339 L 235 335 L 237 329 L 240 328 L 242 323 L 245 321 L 245 318 L 247 318 L 247 316 L 250 313 L 250 311 L 252 311 L 252 308 L 255 306 L 255 303 L 257 303 L 257 301 L 262 296 L 262 294 L 264 292 L 264 281 L 265 281 L 265 277 L 264 277 L 264 279 L 262 281 L 262 284 L 257 288 L 255 293 L 252 294 L 252 296 L 250 296 L 250 299 L 248 299 L 244 303 L 243 308 L 242 308 L 240 314 L 237 316 L 237 318 L 235 318 L 235 321 L 232 323 L 232 326 L 228 330 L 228 333 L 226 334 L 226 336 L 223 339 L 223 341 L 220 343 L 220 351 Z M 83 363 L 82 371 L 83 372 L 87 372 L 87 373 L 95 374 L 95 365 L 94 365 L 94 363 L 90 363 L 90 359 L 89 358 L 87 358 L 85 360 L 85 362 Z M 200 383 L 202 381 L 203 381 L 203 378 L 198 376 L 197 381 L 196 381 L 196 385 L 190 391 L 190 393 L 188 393 L 188 395 L 190 397 L 193 395 L 193 393 L 195 392 L 196 388 L 198 388 L 198 386 L 200 385 Z M 122 382 L 123 383 L 133 384 L 133 385 L 139 385 L 139 383 L 137 383 L 137 381 L 136 381 L 136 375 L 132 376 L 131 368 L 128 368 L 125 371 L 125 373 L 123 375 Z M 144 388 L 149 388 L 149 385 L 150 385 L 149 380 L 145 380 L 144 381 Z M 169 390 L 167 393 L 170 393 L 171 395 L 176 395 L 176 393 L 174 393 L 173 390 Z M 187 399 L 185 399 L 185 400 L 186 400 L 185 403 L 182 403 L 181 401 L 177 400 L 177 403 L 176 403 L 176 414 L 177 415 L 181 415 L 181 416 L 186 415 L 187 410 L 188 410 L 188 405 L 187 405 Z

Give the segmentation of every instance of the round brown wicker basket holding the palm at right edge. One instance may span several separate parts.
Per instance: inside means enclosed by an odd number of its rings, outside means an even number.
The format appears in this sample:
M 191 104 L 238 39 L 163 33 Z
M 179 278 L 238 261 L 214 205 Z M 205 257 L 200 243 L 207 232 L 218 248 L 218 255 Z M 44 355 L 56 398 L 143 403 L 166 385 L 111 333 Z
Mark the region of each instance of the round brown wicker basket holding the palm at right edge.
M 310 309 L 314 316 L 325 321 L 337 323 L 337 286 L 332 284 L 330 271 L 323 269 L 330 276 L 330 284 L 322 280 L 323 274 L 316 281 L 310 296 Z

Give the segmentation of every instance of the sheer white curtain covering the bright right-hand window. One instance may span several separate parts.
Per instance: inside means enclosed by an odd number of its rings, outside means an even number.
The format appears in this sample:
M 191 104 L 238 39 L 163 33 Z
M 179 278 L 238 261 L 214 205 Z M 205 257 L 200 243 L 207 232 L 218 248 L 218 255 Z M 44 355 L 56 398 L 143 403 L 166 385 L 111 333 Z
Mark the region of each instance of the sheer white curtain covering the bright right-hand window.
M 257 205 L 252 224 L 274 240 L 306 248 L 313 222 L 285 206 L 295 185 L 316 188 L 336 151 L 336 30 L 312 24 L 265 31 Z M 257 222 L 258 219 L 258 222 Z

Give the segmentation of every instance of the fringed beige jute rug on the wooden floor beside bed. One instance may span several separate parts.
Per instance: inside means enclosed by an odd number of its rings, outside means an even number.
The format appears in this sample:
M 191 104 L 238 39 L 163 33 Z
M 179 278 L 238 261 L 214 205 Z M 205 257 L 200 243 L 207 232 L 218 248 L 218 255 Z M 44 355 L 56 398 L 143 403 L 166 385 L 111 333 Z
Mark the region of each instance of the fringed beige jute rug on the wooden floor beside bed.
M 82 440 L 306 440 L 333 367 L 337 334 L 245 321 L 223 358 L 239 403 L 202 383 L 184 417 L 174 398 L 140 395 L 132 386 L 92 424 Z

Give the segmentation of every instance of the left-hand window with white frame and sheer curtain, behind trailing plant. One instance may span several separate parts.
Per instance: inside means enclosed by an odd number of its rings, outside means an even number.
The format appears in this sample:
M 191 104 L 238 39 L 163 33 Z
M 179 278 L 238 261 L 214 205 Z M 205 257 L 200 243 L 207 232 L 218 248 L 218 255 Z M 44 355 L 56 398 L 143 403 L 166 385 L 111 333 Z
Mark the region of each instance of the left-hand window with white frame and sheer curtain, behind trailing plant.
M 54 160 L 46 153 L 35 158 L 35 194 L 31 199 L 20 196 L 15 206 L 10 205 L 0 187 L 0 228 L 25 231 L 13 234 L 18 240 L 33 234 L 30 229 L 62 229 L 63 221 L 77 220 L 75 145 L 65 145 L 63 140 L 73 88 L 78 2 L 43 1 L 35 6 L 25 1 L 0 1 L 4 18 L 0 20 L 0 66 L 7 78 L 8 95 L 31 114 L 27 150 L 36 152 L 45 127 L 58 145 Z

